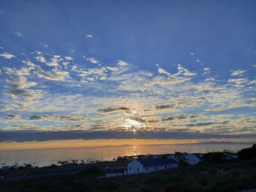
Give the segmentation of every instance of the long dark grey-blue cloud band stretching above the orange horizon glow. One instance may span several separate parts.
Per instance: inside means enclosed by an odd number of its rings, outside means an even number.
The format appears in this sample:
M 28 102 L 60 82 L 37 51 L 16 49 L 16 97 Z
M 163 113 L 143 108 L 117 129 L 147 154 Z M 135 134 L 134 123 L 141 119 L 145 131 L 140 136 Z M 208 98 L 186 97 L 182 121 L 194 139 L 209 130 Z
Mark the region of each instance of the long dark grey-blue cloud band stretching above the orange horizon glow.
M 26 127 L 26 126 L 24 126 Z M 227 139 L 255 138 L 255 133 L 217 134 L 201 133 L 186 130 L 180 131 L 38 131 L 38 130 L 0 130 L 0 142 L 4 141 L 47 141 L 47 140 L 93 140 L 93 139 Z

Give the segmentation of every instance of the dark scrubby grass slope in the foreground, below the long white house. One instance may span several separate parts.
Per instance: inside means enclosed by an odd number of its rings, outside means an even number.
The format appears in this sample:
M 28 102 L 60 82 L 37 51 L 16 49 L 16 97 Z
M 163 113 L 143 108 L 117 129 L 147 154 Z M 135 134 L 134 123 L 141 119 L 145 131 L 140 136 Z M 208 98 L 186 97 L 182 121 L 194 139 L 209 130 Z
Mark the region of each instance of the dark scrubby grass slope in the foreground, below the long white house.
M 88 175 L 86 171 L 86 175 Z M 81 173 L 77 173 L 81 175 Z M 1 181 L 0 191 L 241 191 L 256 188 L 256 161 L 203 162 L 147 174 L 75 182 L 72 175 Z M 83 179 L 83 178 L 81 178 Z

